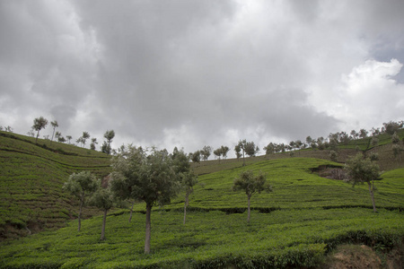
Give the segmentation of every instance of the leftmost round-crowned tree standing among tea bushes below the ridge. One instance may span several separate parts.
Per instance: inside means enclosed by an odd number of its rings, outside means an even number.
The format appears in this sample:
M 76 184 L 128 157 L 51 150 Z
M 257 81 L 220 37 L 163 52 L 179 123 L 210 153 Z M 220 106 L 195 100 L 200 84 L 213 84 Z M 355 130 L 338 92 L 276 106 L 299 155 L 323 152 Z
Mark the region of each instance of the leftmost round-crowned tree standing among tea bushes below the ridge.
M 95 176 L 89 171 L 83 171 L 80 173 L 73 173 L 69 176 L 63 189 L 69 192 L 80 202 L 79 215 L 78 215 L 78 231 L 82 227 L 82 211 L 85 200 L 89 195 L 97 189 L 97 180 Z

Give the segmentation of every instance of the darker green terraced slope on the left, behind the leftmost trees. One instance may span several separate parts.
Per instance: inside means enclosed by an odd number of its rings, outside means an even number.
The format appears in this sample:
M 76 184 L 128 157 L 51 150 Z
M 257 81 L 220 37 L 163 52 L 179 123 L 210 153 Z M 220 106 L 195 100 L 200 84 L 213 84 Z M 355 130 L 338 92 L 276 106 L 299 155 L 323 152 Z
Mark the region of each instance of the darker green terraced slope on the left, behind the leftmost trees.
M 76 212 L 63 182 L 83 169 L 104 177 L 109 160 L 101 152 L 0 132 L 0 238 L 63 227 Z

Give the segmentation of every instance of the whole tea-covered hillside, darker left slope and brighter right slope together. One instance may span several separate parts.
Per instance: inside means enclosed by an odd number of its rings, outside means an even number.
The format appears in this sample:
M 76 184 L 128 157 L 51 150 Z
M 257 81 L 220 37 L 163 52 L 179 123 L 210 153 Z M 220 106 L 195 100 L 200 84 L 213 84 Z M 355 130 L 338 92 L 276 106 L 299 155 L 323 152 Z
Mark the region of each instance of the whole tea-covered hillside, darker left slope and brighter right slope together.
M 402 134 L 401 134 L 402 135 Z M 364 139 L 365 141 L 365 139 Z M 364 141 L 363 144 L 366 144 Z M 356 141 L 361 143 L 360 140 Z M 404 165 L 391 156 L 391 144 L 364 148 L 378 152 L 386 170 L 375 185 L 378 213 L 373 213 L 366 186 L 322 178 L 338 169 L 352 147 L 329 151 L 303 150 L 194 164 L 199 184 L 190 195 L 186 225 L 182 224 L 184 194 L 152 213 L 152 254 L 144 252 L 145 204 L 109 213 L 104 241 L 101 216 L 83 221 L 77 232 L 75 203 L 61 191 L 69 174 L 92 170 L 109 174 L 110 157 L 71 145 L 0 133 L 1 227 L 10 238 L 43 228 L 58 228 L 19 240 L 0 242 L 2 268 L 287 268 L 318 266 L 340 244 L 360 243 L 384 253 L 404 239 Z M 391 159 L 389 159 L 391 158 Z M 387 161 L 386 161 L 387 160 Z M 389 169 L 390 168 L 390 169 Z M 272 193 L 251 198 L 233 192 L 233 179 L 243 169 L 268 175 Z M 324 170 L 326 169 L 326 170 Z M 87 217 L 99 212 L 88 210 Z M 35 224 L 37 223 L 37 224 Z

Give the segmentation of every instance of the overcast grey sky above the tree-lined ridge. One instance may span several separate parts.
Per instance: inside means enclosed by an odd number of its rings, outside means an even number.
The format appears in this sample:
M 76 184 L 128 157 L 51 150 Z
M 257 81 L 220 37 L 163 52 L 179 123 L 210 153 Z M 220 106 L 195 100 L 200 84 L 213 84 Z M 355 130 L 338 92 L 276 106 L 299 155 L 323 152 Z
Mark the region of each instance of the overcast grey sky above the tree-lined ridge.
M 404 1 L 0 1 L 0 126 L 262 150 L 404 119 Z M 40 136 L 52 134 L 50 125 Z M 88 143 L 87 143 L 88 147 Z

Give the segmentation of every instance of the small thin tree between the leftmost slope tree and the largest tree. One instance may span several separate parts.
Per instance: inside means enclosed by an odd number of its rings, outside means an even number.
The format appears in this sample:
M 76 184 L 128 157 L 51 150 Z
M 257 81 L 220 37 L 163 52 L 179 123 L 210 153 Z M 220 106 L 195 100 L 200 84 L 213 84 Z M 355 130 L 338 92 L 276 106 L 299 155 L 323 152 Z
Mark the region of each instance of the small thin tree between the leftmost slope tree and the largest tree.
M 102 217 L 102 228 L 101 228 L 101 238 L 100 240 L 105 239 L 105 225 L 107 222 L 107 213 L 112 208 L 114 204 L 113 195 L 110 192 L 109 187 L 101 187 L 101 182 L 97 183 L 98 189 L 94 192 L 92 197 L 90 198 L 89 204 L 96 206 L 97 208 L 103 211 Z

